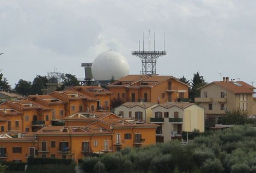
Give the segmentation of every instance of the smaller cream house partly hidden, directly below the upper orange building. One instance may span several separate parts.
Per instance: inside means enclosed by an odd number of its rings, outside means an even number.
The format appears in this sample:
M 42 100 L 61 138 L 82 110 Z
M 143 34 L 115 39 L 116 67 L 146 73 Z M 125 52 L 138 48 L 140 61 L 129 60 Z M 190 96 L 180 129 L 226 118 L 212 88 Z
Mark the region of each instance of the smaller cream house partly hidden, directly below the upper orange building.
M 149 102 L 126 102 L 115 108 L 114 113 L 123 116 L 123 118 L 134 118 L 150 122 L 150 118 L 153 116 L 151 108 L 157 105 Z

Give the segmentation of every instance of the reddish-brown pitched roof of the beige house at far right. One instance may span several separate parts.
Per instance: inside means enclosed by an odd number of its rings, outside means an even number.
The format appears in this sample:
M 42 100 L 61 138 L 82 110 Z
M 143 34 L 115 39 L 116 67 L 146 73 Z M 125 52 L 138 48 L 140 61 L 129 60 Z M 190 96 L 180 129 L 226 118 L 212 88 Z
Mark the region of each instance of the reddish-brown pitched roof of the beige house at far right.
M 221 81 L 215 81 L 211 82 L 207 85 L 204 85 L 203 87 L 200 87 L 198 89 L 202 89 L 205 87 L 208 87 L 209 85 L 218 85 L 219 87 L 222 87 L 230 92 L 233 92 L 234 94 L 240 94 L 240 93 L 246 93 L 246 94 L 253 94 L 255 93 L 253 90 L 256 89 L 252 85 L 249 85 L 243 81 L 230 81 L 230 82 L 221 82 Z

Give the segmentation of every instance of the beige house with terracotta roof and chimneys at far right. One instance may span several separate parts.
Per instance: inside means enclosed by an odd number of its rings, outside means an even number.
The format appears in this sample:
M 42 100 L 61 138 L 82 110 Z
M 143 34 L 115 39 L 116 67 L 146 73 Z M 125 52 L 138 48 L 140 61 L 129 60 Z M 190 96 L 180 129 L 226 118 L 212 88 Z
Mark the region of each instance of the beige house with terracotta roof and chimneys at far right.
M 227 114 L 227 111 L 239 109 L 248 115 L 254 114 L 253 90 L 256 89 L 242 81 L 229 81 L 223 77 L 223 81 L 211 82 L 200 89 L 200 97 L 195 102 L 205 108 L 205 115 L 208 118 L 218 117 Z M 254 104 L 253 104 L 254 103 Z

